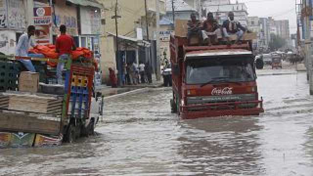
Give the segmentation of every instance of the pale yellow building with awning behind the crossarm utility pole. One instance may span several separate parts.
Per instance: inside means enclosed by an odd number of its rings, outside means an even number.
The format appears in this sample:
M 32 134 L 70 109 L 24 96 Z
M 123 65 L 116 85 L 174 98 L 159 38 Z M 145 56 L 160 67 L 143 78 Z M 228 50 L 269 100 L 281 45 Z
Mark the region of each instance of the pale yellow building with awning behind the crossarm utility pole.
M 145 13 L 145 0 L 98 0 L 104 4 L 102 20 L 103 35 L 101 37 L 102 53 L 102 73 L 103 83 L 108 82 L 109 71 L 112 67 L 118 70 L 116 64 L 116 42 L 119 43 L 119 59 L 117 61 L 130 63 L 149 62 L 154 71 L 156 71 L 156 40 L 158 20 L 166 13 L 165 0 L 146 0 L 147 2 L 147 20 Z M 158 3 L 158 5 L 157 5 Z M 117 9 L 117 30 L 116 37 L 115 8 Z M 159 12 L 160 19 L 157 19 Z M 148 22 L 148 24 L 146 23 Z M 148 26 L 148 32 L 147 32 Z M 148 41 L 149 39 L 149 41 Z M 151 47 L 151 49 L 149 49 Z M 121 68 L 119 68 L 121 69 Z

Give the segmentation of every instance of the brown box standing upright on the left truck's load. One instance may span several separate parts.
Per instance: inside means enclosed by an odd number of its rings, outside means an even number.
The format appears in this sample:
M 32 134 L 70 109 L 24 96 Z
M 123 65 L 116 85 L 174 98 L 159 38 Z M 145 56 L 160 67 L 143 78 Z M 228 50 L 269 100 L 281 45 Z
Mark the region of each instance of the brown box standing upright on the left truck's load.
M 39 73 L 30 71 L 21 72 L 19 78 L 19 91 L 36 93 L 39 89 Z

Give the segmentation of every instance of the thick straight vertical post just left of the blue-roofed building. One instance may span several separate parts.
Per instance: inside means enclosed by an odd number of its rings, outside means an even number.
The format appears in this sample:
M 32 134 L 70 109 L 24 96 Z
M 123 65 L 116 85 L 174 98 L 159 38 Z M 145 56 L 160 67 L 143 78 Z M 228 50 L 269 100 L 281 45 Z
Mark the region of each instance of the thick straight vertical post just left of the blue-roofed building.
M 161 58 L 160 58 L 160 4 L 156 0 L 156 81 L 161 80 Z

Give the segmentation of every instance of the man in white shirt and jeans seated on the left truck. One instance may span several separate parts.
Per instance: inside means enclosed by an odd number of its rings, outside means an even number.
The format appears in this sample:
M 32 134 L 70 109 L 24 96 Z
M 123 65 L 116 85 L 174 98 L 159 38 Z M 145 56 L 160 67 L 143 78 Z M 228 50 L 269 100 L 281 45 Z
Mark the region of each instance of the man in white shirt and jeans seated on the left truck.
M 19 39 L 19 42 L 16 46 L 16 56 L 22 57 L 28 56 L 29 47 L 35 46 L 34 41 L 31 39 L 31 36 L 33 35 L 35 35 L 35 26 L 30 25 L 27 28 L 27 33 L 23 34 Z M 35 67 L 33 66 L 30 60 L 21 59 L 20 61 L 27 68 L 28 71 L 36 72 Z

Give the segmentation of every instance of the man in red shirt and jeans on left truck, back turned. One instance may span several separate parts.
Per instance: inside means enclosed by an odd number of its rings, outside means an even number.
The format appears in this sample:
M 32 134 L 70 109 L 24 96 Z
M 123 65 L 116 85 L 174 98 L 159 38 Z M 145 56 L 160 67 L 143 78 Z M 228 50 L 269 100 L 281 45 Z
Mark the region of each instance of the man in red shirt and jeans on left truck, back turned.
M 69 58 L 72 51 L 76 50 L 76 46 L 72 37 L 66 34 L 67 27 L 65 25 L 60 26 L 61 35 L 57 38 L 55 43 L 55 51 L 59 53 L 59 62 L 57 66 L 57 80 L 58 84 L 63 84 L 62 72 L 64 69 L 64 60 Z

